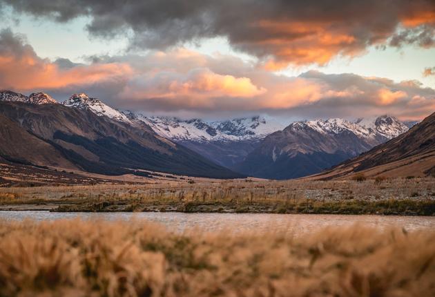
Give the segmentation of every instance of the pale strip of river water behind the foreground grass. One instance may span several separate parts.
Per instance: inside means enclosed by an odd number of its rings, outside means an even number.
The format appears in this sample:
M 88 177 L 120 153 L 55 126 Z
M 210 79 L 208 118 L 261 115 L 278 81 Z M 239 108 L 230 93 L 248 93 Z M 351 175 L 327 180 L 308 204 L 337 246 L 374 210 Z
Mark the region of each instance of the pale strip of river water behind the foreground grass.
M 434 228 L 435 217 L 398 215 L 289 215 L 269 213 L 50 213 L 49 211 L 0 211 L 0 220 L 149 220 L 169 230 L 199 228 L 205 231 L 280 231 L 306 233 L 319 227 L 361 224 L 369 227 L 399 227 L 408 231 Z

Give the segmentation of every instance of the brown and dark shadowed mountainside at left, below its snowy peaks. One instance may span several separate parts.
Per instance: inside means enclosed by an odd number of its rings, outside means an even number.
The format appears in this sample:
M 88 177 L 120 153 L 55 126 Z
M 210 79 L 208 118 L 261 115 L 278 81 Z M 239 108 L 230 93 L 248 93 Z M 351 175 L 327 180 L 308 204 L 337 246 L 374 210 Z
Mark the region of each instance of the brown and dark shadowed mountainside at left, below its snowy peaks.
M 13 94 L 12 94 L 13 95 Z M 118 175 L 137 169 L 210 178 L 240 175 L 157 135 L 86 108 L 18 100 L 0 101 L 0 154 L 11 162 Z M 23 99 L 24 98 L 24 99 Z M 41 99 L 41 96 L 37 96 Z M 52 103 L 52 102 L 50 102 Z

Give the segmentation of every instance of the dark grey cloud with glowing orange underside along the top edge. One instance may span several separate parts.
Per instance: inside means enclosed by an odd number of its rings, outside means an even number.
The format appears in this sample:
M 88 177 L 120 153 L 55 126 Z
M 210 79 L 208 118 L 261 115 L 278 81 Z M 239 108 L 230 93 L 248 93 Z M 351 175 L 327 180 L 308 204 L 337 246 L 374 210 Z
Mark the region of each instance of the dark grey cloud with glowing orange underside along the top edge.
M 129 35 L 131 48 L 166 50 L 226 37 L 269 70 L 327 64 L 369 46 L 435 45 L 432 0 L 0 0 L 16 12 L 66 22 L 90 19 L 94 37 Z

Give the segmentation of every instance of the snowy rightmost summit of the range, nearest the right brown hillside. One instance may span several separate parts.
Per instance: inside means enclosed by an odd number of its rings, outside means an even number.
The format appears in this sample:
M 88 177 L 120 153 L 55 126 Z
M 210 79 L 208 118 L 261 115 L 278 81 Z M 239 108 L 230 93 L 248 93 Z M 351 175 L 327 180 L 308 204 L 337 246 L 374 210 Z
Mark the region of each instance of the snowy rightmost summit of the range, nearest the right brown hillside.
M 356 124 L 367 128 L 371 133 L 378 133 L 387 139 L 392 139 L 408 131 L 409 127 L 396 117 L 381 115 L 380 117 L 362 118 Z

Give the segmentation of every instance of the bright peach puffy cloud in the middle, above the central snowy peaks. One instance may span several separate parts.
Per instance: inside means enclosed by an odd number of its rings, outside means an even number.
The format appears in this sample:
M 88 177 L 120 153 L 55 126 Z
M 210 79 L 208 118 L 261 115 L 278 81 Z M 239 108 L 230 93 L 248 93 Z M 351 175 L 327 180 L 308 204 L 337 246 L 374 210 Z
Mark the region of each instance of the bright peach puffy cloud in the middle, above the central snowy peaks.
M 208 68 L 196 68 L 188 73 L 162 70 L 144 73 L 132 79 L 120 97 L 134 100 L 160 99 L 162 104 L 180 108 L 213 108 L 222 102 L 253 103 L 252 99 L 267 93 L 247 77 L 219 75 Z M 251 103 L 250 103 L 251 102 Z

